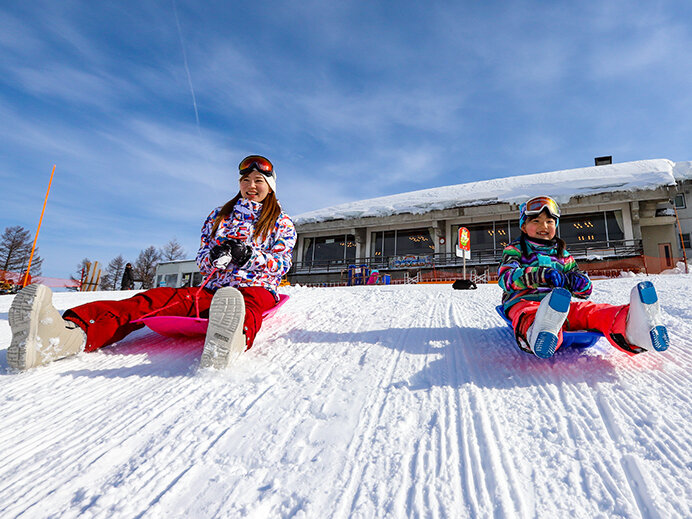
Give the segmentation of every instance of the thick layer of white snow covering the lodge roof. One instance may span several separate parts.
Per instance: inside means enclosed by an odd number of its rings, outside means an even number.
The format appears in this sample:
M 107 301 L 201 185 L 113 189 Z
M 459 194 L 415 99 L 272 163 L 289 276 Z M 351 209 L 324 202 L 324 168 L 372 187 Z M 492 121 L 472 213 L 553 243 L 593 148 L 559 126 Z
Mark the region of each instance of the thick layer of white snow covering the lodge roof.
M 675 174 L 674 162 L 654 159 L 435 187 L 326 207 L 300 214 L 294 221 L 307 224 L 401 213 L 422 214 L 453 207 L 521 203 L 536 195 L 549 195 L 559 203 L 566 203 L 575 196 L 674 185 L 678 174 L 692 176 L 692 163 L 678 164 L 681 166 Z

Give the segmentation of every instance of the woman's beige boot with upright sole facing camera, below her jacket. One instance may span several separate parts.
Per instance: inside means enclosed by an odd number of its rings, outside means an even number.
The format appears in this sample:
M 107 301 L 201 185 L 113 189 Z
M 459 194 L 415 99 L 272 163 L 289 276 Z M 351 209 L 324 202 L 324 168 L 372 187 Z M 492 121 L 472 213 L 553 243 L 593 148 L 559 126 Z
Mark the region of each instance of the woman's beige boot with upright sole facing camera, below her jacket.
M 209 328 L 204 339 L 201 368 L 224 369 L 245 351 L 245 300 L 233 287 L 220 288 L 209 306 Z

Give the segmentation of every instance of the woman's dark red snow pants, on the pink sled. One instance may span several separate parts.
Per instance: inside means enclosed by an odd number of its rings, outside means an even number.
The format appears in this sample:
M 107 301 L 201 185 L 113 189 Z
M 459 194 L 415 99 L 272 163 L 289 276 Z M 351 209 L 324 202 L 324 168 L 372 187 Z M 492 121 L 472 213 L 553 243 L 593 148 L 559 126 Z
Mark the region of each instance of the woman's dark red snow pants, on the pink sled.
M 108 346 L 127 334 L 142 328 L 143 324 L 132 321 L 160 310 L 154 315 L 177 315 L 194 317 L 195 293 L 198 287 L 152 288 L 121 301 L 94 301 L 66 310 L 63 318 L 76 323 L 86 332 L 85 351 L 94 351 Z M 245 324 L 247 348 L 252 347 L 255 336 L 262 326 L 262 313 L 276 305 L 276 299 L 269 290 L 262 287 L 239 287 L 245 300 Z M 202 289 L 198 296 L 199 312 L 206 317 L 214 292 Z

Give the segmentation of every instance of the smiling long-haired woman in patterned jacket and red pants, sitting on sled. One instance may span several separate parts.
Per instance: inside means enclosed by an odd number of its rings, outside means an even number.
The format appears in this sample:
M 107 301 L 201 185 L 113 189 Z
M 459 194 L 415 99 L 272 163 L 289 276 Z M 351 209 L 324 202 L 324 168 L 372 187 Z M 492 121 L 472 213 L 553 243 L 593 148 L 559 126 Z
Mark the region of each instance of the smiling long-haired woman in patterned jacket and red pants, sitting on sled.
M 152 288 L 121 301 L 86 303 L 61 316 L 48 287 L 29 285 L 10 307 L 7 363 L 24 370 L 97 350 L 144 326 L 136 321 L 152 313 L 209 311 L 202 367 L 224 368 L 250 348 L 262 314 L 279 300 L 276 289 L 291 267 L 296 231 L 276 198 L 272 163 L 250 155 L 239 173 L 238 194 L 202 226 L 197 265 L 208 278 L 205 288 Z

